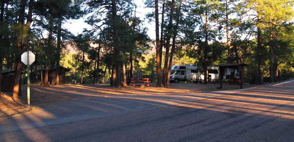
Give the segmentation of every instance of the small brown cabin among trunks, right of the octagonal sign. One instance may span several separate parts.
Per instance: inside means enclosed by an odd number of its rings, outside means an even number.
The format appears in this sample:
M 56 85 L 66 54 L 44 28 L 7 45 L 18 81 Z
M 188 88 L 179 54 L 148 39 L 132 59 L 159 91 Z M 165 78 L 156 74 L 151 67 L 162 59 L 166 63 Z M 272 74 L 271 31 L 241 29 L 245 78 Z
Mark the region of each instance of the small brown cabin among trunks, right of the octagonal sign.
M 56 84 L 56 67 L 49 69 L 48 81 L 50 84 Z M 45 69 L 43 71 L 43 79 L 45 78 Z M 65 76 L 66 71 L 71 71 L 70 69 L 59 66 L 59 84 L 70 84 L 70 76 Z M 41 80 L 41 76 L 38 77 Z

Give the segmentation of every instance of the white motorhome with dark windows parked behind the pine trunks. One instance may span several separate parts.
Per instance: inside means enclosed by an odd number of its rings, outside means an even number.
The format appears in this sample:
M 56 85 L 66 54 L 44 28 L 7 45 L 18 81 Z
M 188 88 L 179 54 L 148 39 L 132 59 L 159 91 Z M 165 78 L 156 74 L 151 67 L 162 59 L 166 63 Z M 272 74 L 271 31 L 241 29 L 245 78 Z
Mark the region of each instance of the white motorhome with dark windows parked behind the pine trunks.
M 211 75 L 211 81 L 219 80 L 218 67 L 209 67 L 207 75 Z M 196 65 L 177 65 L 172 67 L 170 82 L 178 83 L 179 81 L 204 82 L 204 73 L 199 72 Z

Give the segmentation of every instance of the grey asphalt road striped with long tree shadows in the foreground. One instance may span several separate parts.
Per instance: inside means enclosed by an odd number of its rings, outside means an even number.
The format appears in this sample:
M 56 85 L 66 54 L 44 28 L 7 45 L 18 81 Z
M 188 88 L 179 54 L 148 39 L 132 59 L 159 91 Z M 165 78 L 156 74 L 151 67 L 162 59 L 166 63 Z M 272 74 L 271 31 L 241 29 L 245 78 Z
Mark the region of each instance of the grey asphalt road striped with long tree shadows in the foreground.
M 60 102 L 0 122 L 0 142 L 294 142 L 294 81 Z

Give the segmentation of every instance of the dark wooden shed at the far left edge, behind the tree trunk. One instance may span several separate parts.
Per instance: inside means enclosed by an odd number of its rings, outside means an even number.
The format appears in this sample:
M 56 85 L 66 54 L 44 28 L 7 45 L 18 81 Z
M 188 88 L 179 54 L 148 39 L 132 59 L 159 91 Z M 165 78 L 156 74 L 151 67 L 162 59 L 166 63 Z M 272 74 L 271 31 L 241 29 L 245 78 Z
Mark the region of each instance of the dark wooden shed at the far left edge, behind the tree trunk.
M 1 91 L 13 91 L 14 87 L 14 70 L 7 69 L 1 71 Z

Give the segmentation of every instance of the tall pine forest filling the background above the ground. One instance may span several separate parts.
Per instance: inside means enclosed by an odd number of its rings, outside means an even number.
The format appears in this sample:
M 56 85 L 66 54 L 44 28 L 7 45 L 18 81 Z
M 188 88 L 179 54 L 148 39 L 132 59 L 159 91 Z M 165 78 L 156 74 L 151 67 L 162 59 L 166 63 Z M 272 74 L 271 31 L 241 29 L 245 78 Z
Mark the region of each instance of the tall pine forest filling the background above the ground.
M 293 0 L 146 0 L 136 17 L 132 0 L 1 0 L 0 70 L 14 69 L 14 97 L 25 84 L 21 55 L 30 50 L 31 82 L 48 87 L 49 70 L 70 69 L 71 83 L 150 78 L 169 86 L 173 65 L 245 63 L 245 82 L 294 77 Z M 87 15 L 91 28 L 74 35 L 63 24 Z M 155 23 L 155 39 L 144 20 Z M 76 27 L 79 28 L 79 27 Z M 45 70 L 44 78 L 37 78 Z M 21 79 L 22 78 L 22 79 Z M 204 79 L 206 83 L 206 78 Z

